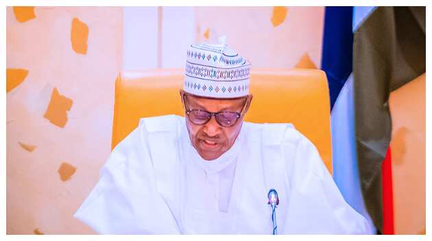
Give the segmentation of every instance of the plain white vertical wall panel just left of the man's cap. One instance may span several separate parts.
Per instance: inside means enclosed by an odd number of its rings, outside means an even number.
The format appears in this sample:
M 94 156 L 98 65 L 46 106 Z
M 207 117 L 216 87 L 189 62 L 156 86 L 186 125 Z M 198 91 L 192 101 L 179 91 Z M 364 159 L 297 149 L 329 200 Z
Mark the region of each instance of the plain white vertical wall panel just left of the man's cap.
M 184 67 L 187 46 L 195 42 L 195 10 L 193 7 L 160 9 L 124 8 L 123 71 Z

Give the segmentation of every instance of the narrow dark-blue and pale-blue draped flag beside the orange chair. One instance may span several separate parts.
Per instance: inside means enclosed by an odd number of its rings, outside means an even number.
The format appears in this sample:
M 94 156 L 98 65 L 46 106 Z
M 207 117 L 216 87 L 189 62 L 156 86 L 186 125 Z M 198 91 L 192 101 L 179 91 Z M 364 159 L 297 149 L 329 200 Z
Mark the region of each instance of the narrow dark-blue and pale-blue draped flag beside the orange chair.
M 372 8 L 361 8 L 363 13 Z M 352 7 L 326 7 L 322 70 L 326 72 L 331 98 L 331 138 L 333 150 L 333 179 L 346 202 L 374 224 L 365 209 L 355 145 L 354 97 L 352 79 L 352 29 L 361 21 L 353 21 Z M 330 35 L 330 36 L 328 36 Z

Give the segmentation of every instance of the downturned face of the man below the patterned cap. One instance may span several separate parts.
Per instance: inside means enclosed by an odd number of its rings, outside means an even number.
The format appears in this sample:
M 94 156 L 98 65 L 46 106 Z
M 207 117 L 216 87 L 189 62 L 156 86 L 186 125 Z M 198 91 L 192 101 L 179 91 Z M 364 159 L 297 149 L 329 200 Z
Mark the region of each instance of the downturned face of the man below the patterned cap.
M 184 92 L 180 92 L 184 93 Z M 187 110 L 199 109 L 208 112 L 239 112 L 243 110 L 235 125 L 223 127 L 217 123 L 215 116 L 204 125 L 195 125 L 186 115 L 186 125 L 193 147 L 204 160 L 215 160 L 228 151 L 240 133 L 243 116 L 248 110 L 252 95 L 240 99 L 206 99 L 184 94 L 184 106 Z M 244 108 L 243 108 L 244 107 Z

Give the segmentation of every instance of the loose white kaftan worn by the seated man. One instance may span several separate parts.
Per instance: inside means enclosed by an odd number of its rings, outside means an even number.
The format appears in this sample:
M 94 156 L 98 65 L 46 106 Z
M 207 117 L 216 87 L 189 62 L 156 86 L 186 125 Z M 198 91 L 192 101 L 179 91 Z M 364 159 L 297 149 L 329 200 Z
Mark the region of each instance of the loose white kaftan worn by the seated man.
M 371 233 L 341 196 L 317 149 L 289 124 L 244 122 L 213 161 L 191 145 L 184 118 L 142 118 L 112 151 L 75 217 L 98 233 Z

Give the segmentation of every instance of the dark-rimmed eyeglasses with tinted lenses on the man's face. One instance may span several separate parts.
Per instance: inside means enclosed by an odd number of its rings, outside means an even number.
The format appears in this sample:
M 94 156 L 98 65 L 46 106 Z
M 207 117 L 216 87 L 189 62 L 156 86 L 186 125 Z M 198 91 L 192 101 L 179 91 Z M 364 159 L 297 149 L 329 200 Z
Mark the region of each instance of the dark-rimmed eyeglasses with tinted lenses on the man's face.
M 189 121 L 195 125 L 205 125 L 210 121 L 211 116 L 215 116 L 216 122 L 221 125 L 222 127 L 232 127 L 237 123 L 237 120 L 240 118 L 241 113 L 239 112 L 208 112 L 206 110 L 200 110 L 200 109 L 190 109 L 188 110 L 186 107 L 186 102 L 184 101 L 183 96 L 183 102 L 184 102 L 184 108 L 186 109 L 186 114 L 189 116 Z M 243 105 L 244 108 L 244 105 Z M 241 108 L 243 112 L 243 108 Z

